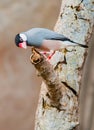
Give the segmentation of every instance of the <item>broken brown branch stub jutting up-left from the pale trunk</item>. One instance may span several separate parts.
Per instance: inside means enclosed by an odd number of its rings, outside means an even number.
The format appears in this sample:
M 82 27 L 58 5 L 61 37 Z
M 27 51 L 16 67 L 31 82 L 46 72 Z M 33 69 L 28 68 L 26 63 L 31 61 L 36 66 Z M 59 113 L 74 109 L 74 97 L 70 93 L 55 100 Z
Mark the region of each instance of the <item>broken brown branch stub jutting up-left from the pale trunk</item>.
M 62 97 L 62 91 L 65 93 L 66 88 L 60 82 L 52 65 L 35 48 L 32 48 L 30 60 L 47 85 L 48 93 L 46 93 L 46 96 L 50 99 L 49 105 L 61 109 L 60 99 Z M 43 99 L 43 105 L 45 104 L 44 102 Z

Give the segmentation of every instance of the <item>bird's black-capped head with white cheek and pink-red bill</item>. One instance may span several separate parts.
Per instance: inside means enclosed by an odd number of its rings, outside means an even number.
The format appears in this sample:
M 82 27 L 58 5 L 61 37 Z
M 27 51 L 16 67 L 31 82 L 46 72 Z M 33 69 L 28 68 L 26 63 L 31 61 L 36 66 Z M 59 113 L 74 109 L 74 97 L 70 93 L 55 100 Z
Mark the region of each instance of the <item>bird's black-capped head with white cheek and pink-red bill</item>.
M 20 48 L 27 48 L 27 37 L 25 34 L 20 33 L 17 34 L 15 37 L 15 44 L 16 46 L 20 47 Z

